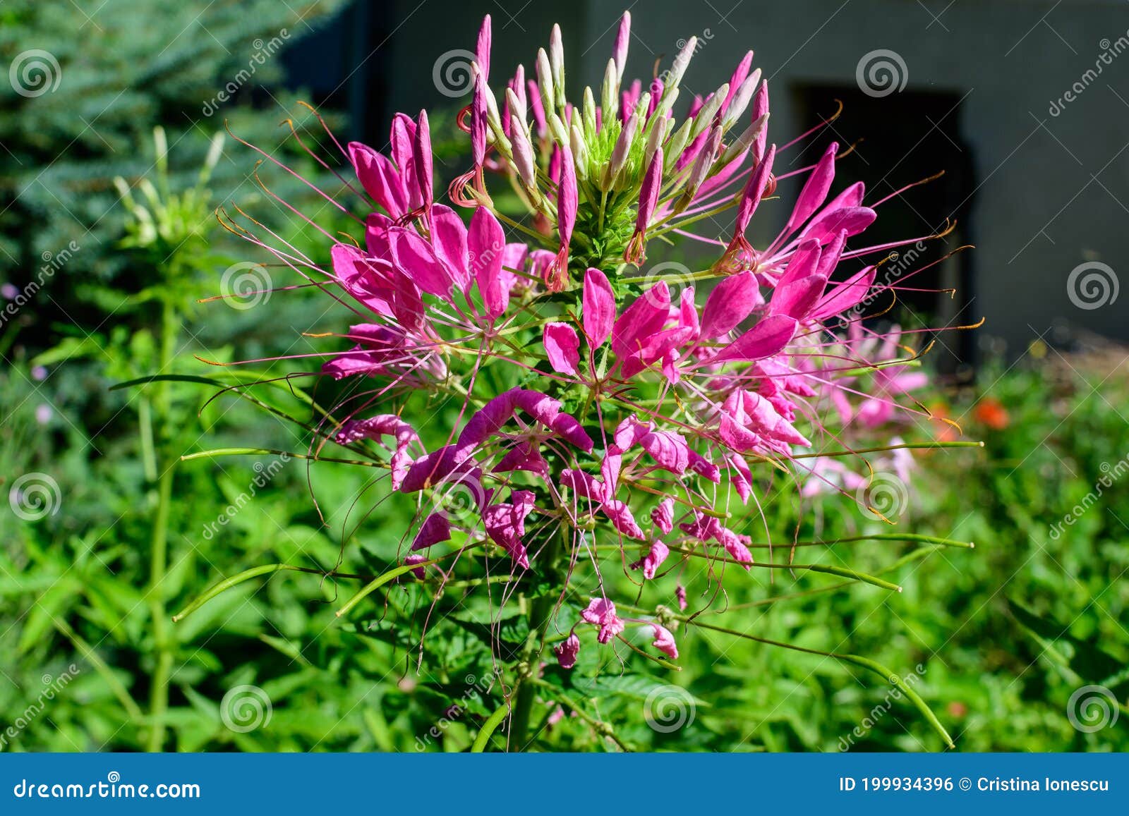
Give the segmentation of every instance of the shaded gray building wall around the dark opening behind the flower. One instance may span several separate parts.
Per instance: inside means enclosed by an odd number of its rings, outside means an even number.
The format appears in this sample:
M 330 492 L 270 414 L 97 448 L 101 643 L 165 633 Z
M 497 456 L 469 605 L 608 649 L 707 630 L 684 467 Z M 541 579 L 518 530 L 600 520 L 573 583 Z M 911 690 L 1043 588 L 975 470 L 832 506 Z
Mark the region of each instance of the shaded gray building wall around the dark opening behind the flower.
M 399 3 L 405 20 L 388 42 L 397 77 L 393 105 L 418 108 L 421 94 L 428 100 L 435 59 L 449 49 L 473 47 L 485 11 L 495 20 L 496 80 L 519 60 L 530 69 L 559 20 L 570 80 L 580 80 L 570 81 L 570 95 L 583 84 L 598 87 L 623 5 Z M 1117 284 L 1129 286 L 1129 49 L 1103 64 L 1058 115 L 1049 112 L 1052 100 L 1086 81 L 1084 72 L 1103 52 L 1129 43 L 1126 2 L 637 0 L 630 8 L 634 76 L 649 77 L 659 54 L 668 64 L 681 38 L 708 36 L 685 81 L 691 90 L 708 93 L 753 49 L 755 64 L 770 78 L 772 139 L 781 143 L 806 121 L 789 89 L 813 82 L 854 86 L 864 55 L 896 52 L 905 64 L 905 93 L 948 90 L 963 97 L 953 115 L 975 166 L 971 227 L 978 248 L 973 301 L 960 321 L 987 317 L 983 336 L 1004 337 L 1013 354 L 1056 321 L 1129 340 L 1129 291 L 1095 309 L 1074 305 L 1067 291 L 1070 272 L 1089 261 L 1108 264 L 1120 275 Z M 1119 37 L 1124 37 L 1120 45 Z M 896 97 L 885 97 L 892 112 Z M 922 135 L 933 126 L 918 124 Z M 912 149 L 912 142 L 905 146 L 905 152 Z M 886 188 L 872 192 L 884 195 L 891 184 L 914 181 L 895 167 L 904 155 L 868 153 L 865 142 L 858 150 L 867 165 L 894 168 Z M 846 177 L 850 164 L 842 167 Z M 921 223 L 922 231 L 934 227 Z

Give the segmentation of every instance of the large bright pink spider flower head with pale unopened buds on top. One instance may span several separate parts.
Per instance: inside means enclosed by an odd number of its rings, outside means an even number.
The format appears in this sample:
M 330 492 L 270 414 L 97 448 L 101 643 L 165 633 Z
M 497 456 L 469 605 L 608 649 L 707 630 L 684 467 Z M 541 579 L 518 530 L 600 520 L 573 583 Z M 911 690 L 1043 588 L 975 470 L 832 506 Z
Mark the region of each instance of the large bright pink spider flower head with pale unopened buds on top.
M 676 658 L 669 621 L 621 616 L 602 570 L 623 563 L 649 584 L 664 567 L 681 576 L 690 555 L 749 569 L 751 538 L 735 528 L 745 504 L 759 507 L 754 468 L 790 468 L 805 494 L 843 489 L 834 459 L 796 450 L 833 441 L 825 420 L 835 413 L 867 427 L 890 420 L 922 377 L 896 365 L 905 362 L 896 335 L 851 317 L 893 289 L 863 258 L 900 244 L 849 246 L 876 211 L 861 184 L 831 194 L 838 146 L 774 175 L 768 84 L 752 52 L 680 122 L 693 38 L 646 88 L 624 79 L 629 40 L 625 14 L 598 103 L 590 88 L 579 105 L 567 100 L 555 27 L 535 78 L 519 65 L 499 102 L 488 17 L 460 117 L 473 167 L 450 185 L 466 212 L 436 200 L 427 113 L 396 114 L 385 151 L 357 142 L 344 151 L 371 210 L 362 245 L 335 243 L 329 269 L 289 245 L 271 248 L 361 315 L 339 335 L 351 348 L 321 372 L 376 385 L 342 404 L 326 436 L 347 447 L 391 440 L 391 489 L 419 508 L 405 563 L 423 563 L 421 552 L 460 530 L 458 541 L 495 545 L 515 571 L 568 576 L 592 599 L 555 649 L 564 668 L 585 626 L 598 643 L 627 637 L 628 624 L 650 628 L 651 646 Z M 752 218 L 789 176 L 805 177 L 798 198 L 777 237 L 756 247 Z M 524 211 L 497 205 L 488 178 L 516 191 Z M 693 231 L 727 209 L 728 240 Z M 657 238 L 711 246 L 716 260 L 640 278 L 634 267 Z M 461 402 L 457 424 L 437 435 L 405 411 L 421 394 Z M 383 413 L 369 415 L 374 405 Z M 445 497 L 458 491 L 472 500 L 452 512 Z M 638 556 L 623 558 L 629 549 Z M 430 570 L 446 578 L 437 567 L 414 572 Z M 681 579 L 672 595 L 684 609 Z

